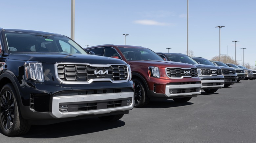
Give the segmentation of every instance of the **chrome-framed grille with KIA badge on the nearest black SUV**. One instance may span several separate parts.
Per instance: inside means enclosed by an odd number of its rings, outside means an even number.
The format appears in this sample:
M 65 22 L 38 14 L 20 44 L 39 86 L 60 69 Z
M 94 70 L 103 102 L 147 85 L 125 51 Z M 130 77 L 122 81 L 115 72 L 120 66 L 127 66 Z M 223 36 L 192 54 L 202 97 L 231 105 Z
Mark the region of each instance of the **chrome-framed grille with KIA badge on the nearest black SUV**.
M 55 75 L 63 84 L 90 84 L 94 81 L 122 83 L 129 80 L 129 68 L 125 64 L 56 63 L 54 66 Z

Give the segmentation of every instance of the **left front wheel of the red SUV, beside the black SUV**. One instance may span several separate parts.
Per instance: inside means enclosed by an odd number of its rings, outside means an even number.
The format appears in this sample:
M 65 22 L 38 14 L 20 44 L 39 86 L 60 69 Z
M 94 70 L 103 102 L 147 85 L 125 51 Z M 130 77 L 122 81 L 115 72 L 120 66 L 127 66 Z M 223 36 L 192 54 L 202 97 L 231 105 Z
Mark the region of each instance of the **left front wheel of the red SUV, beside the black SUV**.
M 143 82 L 137 78 L 133 79 L 134 82 L 134 107 L 146 106 L 149 102 L 149 98 L 146 95 L 145 86 Z

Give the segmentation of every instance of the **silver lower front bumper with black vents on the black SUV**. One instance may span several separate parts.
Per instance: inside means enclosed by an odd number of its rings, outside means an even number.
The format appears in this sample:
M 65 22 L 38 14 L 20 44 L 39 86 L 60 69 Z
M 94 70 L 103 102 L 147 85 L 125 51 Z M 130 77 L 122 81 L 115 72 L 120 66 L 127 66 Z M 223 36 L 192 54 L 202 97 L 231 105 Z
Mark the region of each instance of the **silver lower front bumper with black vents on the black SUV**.
M 58 95 L 53 97 L 52 113 L 56 118 L 106 114 L 132 110 L 133 101 L 133 92 L 75 96 Z

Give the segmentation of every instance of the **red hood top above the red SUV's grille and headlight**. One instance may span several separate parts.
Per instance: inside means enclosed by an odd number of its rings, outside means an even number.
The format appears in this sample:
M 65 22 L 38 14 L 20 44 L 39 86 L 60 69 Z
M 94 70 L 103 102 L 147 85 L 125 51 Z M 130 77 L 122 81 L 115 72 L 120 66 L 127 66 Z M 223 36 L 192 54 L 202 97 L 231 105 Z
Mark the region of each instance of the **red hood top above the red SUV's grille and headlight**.
M 155 66 L 160 68 L 173 67 L 173 68 L 196 68 L 196 66 L 192 64 L 185 64 L 180 62 L 171 62 L 171 61 L 152 61 L 152 60 L 144 60 L 144 61 L 129 61 L 131 65 L 137 66 Z

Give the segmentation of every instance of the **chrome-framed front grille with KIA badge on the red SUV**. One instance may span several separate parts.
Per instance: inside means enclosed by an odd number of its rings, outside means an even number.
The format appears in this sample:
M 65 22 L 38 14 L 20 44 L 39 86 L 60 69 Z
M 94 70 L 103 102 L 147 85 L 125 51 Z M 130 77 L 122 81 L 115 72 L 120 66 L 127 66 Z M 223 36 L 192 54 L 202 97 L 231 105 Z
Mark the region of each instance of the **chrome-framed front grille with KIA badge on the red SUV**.
M 198 77 L 197 68 L 166 68 L 166 74 L 170 78 Z

